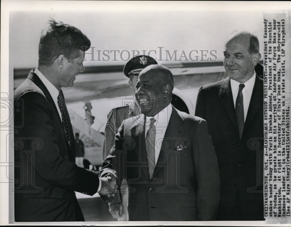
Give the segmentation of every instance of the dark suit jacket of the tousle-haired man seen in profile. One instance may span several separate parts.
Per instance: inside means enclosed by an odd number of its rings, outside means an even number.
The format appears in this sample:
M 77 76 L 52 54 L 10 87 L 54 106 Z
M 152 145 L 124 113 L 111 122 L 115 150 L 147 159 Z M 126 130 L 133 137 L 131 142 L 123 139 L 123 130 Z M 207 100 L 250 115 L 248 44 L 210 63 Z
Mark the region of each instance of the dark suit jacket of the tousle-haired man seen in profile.
M 75 165 L 70 120 L 71 149 L 54 101 L 33 70 L 14 94 L 15 110 L 21 110 L 14 125 L 22 125 L 14 135 L 15 221 L 84 221 L 74 191 L 93 195 L 99 178 Z

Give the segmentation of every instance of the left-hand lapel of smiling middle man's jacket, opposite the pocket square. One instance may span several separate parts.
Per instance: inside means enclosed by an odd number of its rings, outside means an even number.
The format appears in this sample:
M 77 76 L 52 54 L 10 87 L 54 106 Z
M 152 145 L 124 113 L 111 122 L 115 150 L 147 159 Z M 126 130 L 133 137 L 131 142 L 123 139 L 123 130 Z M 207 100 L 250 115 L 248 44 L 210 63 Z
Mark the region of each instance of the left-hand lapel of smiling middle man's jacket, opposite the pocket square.
M 145 150 L 145 116 L 143 114 L 139 115 L 134 119 L 134 126 L 130 129 L 131 137 L 134 139 L 136 144 L 135 154 L 138 159 L 138 162 L 141 163 L 141 170 L 145 175 L 147 181 L 150 180 L 150 175 L 148 172 L 148 163 L 146 150 Z

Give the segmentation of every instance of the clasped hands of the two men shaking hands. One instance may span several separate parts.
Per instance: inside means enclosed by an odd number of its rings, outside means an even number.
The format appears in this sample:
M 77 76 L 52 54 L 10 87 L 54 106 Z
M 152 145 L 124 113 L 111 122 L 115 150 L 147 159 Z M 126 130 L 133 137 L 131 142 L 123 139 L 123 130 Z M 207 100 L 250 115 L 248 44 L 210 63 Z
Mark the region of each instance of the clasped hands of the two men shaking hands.
M 105 177 L 100 177 L 101 189 L 98 192 L 100 197 L 105 202 L 110 202 L 117 191 L 117 184 L 112 174 L 107 174 Z

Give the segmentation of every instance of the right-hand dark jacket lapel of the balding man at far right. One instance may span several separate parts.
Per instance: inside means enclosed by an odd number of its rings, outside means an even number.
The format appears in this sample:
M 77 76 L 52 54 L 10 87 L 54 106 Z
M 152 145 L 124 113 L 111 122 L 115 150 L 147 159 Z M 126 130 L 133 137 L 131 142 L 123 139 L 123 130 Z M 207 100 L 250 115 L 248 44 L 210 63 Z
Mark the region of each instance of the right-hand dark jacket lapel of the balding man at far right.
M 259 107 L 263 104 L 263 99 L 263 83 L 262 80 L 256 76 L 248 113 L 246 115 L 246 122 L 244 123 L 244 130 L 248 127 Z

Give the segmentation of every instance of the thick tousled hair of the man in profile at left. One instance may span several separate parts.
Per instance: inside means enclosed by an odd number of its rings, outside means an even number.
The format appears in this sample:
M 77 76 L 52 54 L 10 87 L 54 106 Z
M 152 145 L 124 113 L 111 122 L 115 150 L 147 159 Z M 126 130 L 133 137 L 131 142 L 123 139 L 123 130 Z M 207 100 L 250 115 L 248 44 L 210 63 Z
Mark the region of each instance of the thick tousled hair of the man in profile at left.
M 79 29 L 51 19 L 40 35 L 38 65 L 50 66 L 62 54 L 71 62 L 79 57 L 79 50 L 86 51 L 90 46 L 90 40 Z

